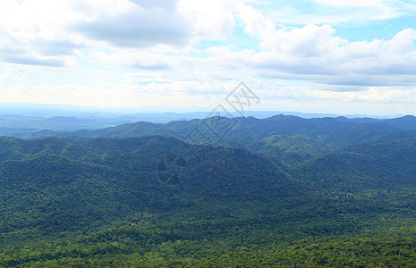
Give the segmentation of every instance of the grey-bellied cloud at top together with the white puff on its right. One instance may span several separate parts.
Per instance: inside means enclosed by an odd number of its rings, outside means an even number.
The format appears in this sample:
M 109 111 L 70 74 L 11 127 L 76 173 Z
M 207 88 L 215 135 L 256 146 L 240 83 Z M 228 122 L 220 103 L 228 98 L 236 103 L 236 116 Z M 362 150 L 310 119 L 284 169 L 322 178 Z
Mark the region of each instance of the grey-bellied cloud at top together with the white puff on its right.
M 187 46 L 200 39 L 224 39 L 233 29 L 229 1 L 121 1 L 77 5 L 85 20 L 72 30 L 114 46 Z M 107 4 L 106 4 L 107 3 Z M 113 8 L 115 4 L 115 8 Z

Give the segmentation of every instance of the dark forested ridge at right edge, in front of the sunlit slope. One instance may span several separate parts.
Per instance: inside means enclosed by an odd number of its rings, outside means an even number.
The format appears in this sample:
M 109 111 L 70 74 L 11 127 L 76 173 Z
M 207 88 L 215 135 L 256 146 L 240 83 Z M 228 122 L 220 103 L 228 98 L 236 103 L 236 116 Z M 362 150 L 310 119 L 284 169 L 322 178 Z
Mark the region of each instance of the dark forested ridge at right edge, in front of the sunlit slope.
M 360 144 L 301 163 L 297 177 L 352 192 L 416 186 L 416 138 Z

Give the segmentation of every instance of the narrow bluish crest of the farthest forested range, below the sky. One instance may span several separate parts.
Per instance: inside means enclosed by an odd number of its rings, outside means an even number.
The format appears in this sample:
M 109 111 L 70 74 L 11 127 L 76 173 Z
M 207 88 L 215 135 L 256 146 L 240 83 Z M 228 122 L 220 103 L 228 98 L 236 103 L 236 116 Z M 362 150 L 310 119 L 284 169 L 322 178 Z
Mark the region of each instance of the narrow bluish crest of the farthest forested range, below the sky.
M 413 127 L 412 125 L 407 125 L 408 128 L 405 128 L 403 127 L 403 123 L 400 123 L 401 121 L 412 121 L 412 118 L 412 116 L 406 116 L 403 118 L 385 121 L 361 121 L 357 119 L 346 119 L 341 117 L 304 119 L 297 116 L 280 114 L 265 119 L 257 119 L 254 117 L 222 117 L 215 119 L 215 121 L 221 121 L 222 124 L 233 125 L 232 130 L 230 130 L 230 133 L 228 134 L 231 137 L 241 138 L 244 140 L 249 138 L 266 138 L 276 134 L 319 135 L 325 133 L 328 135 L 344 135 L 344 138 L 347 138 L 348 135 L 353 136 L 357 133 L 360 133 L 361 131 L 365 132 L 365 130 L 392 133 L 399 131 L 395 127 L 401 127 L 403 129 L 416 129 L 416 126 Z M 131 136 L 149 136 L 157 134 L 166 134 L 178 138 L 184 138 L 195 127 L 198 127 L 201 131 L 206 131 L 207 135 L 210 137 L 214 137 L 214 133 L 209 133 L 207 129 L 207 126 L 211 123 L 211 121 L 211 118 L 201 120 L 194 119 L 191 121 L 171 121 L 164 124 L 139 121 L 102 130 L 78 130 L 72 132 L 39 131 L 37 133 L 29 134 L 27 137 L 21 138 L 46 138 L 48 136 L 125 138 Z M 345 130 L 348 130 L 349 132 L 342 133 L 342 131 Z M 245 132 L 242 135 L 243 131 L 249 132 Z

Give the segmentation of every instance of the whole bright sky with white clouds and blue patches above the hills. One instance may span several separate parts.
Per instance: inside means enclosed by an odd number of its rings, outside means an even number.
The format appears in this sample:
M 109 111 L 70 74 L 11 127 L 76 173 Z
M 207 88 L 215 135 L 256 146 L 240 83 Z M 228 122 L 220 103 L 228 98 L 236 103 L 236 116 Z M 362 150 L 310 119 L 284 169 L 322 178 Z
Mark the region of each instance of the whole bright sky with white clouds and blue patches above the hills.
M 409 0 L 1 0 L 0 103 L 233 110 L 243 82 L 252 111 L 416 114 L 415 14 Z

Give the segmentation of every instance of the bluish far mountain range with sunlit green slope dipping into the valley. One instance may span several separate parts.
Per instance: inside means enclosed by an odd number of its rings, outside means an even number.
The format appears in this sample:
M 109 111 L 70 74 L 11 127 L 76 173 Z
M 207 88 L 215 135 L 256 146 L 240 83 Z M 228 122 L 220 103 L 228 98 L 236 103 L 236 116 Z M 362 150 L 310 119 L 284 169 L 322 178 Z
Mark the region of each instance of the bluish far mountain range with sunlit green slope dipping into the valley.
M 154 124 L 139 121 L 102 130 L 55 132 L 41 130 L 20 138 L 81 137 L 126 138 L 160 135 L 180 138 L 194 143 L 192 133 L 198 130 L 205 142 L 232 147 L 245 147 L 251 151 L 279 159 L 293 165 L 345 147 L 391 138 L 416 137 L 412 124 L 406 129 L 401 121 L 412 121 L 412 116 L 394 120 L 312 118 L 275 115 L 266 119 L 254 117 L 208 118 L 192 121 L 171 121 Z M 415 120 L 416 121 L 416 120 Z M 416 125 L 414 125 L 416 130 Z M 216 130 L 218 129 L 218 130 Z M 198 142 L 198 140 L 197 140 Z

